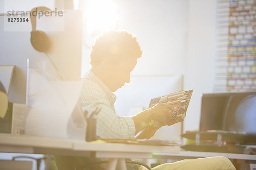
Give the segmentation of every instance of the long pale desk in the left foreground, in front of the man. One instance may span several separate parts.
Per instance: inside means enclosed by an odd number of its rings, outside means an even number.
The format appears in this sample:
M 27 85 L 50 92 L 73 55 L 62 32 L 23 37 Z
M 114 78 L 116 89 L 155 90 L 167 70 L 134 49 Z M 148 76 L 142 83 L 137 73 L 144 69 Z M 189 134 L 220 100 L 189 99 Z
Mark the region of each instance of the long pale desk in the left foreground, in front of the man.
M 13 136 L 11 134 L 0 133 L 0 152 L 110 158 L 108 170 L 115 170 L 117 163 L 123 167 L 123 170 L 126 170 L 125 158 L 151 159 L 153 152 L 164 154 L 179 153 L 180 147 L 92 143 L 37 136 Z

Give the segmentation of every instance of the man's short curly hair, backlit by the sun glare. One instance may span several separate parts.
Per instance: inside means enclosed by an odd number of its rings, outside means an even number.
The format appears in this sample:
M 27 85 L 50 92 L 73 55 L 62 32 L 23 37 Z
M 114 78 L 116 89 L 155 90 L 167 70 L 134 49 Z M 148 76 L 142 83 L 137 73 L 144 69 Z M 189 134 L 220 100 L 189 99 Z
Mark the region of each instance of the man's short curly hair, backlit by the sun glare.
M 141 47 L 137 38 L 127 31 L 106 31 L 100 35 L 90 51 L 90 64 L 98 65 L 106 57 L 140 58 Z

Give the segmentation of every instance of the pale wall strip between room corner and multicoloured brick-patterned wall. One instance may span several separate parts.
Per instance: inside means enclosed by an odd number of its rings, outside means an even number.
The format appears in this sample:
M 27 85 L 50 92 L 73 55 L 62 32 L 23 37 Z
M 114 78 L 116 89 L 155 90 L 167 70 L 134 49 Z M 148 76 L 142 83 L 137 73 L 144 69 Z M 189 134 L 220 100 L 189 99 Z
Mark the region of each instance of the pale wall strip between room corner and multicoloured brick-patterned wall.
M 215 0 L 189 0 L 184 89 L 194 89 L 184 131 L 198 130 L 201 94 L 213 92 L 215 63 Z

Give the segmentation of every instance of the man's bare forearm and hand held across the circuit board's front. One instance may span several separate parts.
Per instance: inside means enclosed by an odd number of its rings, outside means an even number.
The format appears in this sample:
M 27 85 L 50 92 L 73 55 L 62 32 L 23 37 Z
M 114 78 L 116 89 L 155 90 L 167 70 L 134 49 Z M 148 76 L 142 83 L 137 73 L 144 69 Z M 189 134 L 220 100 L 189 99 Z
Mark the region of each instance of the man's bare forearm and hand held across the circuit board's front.
M 172 106 L 165 104 L 154 105 L 152 108 L 146 109 L 145 111 L 142 111 L 131 118 L 134 120 L 136 129 L 135 134 L 142 130 L 151 120 L 160 122 L 163 126 L 173 125 L 176 123 L 171 121 Z

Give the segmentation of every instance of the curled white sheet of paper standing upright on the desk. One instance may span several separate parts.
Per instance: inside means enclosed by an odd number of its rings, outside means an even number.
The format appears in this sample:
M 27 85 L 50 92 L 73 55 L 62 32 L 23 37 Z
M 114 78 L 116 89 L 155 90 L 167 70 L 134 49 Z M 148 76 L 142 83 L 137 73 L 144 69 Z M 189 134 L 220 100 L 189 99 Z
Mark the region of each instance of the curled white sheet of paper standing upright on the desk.
M 49 81 L 37 70 L 30 69 L 28 83 L 27 105 L 30 108 L 25 134 L 68 138 L 68 122 L 79 101 L 81 82 Z

